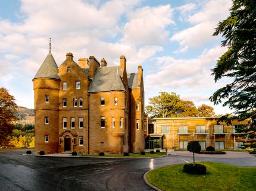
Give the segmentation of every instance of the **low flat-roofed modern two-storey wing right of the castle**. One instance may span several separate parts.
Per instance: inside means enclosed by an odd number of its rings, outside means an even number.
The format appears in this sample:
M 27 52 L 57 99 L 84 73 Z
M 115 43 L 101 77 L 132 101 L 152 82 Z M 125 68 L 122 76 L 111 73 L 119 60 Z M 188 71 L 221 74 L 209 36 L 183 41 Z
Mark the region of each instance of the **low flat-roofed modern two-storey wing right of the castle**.
M 199 141 L 201 148 L 241 149 L 243 144 L 239 126 L 248 120 L 232 120 L 232 125 L 217 123 L 217 117 L 155 118 L 148 125 L 145 148 L 187 149 L 189 141 Z

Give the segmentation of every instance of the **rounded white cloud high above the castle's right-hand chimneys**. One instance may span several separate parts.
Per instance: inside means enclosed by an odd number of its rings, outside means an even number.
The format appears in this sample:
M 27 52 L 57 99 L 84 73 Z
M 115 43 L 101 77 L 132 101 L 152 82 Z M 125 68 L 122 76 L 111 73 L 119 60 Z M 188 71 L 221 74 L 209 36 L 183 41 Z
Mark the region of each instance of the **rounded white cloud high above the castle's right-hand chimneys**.
M 170 5 L 143 7 L 128 14 L 121 42 L 127 44 L 159 44 L 168 37 L 166 29 L 174 24 Z

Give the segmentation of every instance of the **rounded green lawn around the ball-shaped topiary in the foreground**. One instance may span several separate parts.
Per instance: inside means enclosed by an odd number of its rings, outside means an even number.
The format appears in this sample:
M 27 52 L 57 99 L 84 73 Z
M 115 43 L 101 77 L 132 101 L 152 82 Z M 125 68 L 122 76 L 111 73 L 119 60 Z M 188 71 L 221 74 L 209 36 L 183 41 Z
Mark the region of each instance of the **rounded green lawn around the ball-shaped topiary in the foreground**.
M 151 184 L 162 190 L 256 190 L 256 167 L 200 162 L 207 174 L 183 173 L 183 165 L 157 168 L 147 174 Z

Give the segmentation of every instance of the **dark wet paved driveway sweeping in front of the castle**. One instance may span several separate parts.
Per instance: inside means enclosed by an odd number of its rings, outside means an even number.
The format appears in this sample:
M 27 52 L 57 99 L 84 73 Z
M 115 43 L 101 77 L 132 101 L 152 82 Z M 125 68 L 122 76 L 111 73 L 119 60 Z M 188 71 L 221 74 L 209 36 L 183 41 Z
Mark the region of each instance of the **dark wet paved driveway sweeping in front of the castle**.
M 25 150 L 0 151 L 0 190 L 152 190 L 143 182 L 148 170 L 192 162 L 172 152 L 160 158 L 71 158 L 22 155 Z M 256 157 L 196 157 L 240 166 L 256 166 Z

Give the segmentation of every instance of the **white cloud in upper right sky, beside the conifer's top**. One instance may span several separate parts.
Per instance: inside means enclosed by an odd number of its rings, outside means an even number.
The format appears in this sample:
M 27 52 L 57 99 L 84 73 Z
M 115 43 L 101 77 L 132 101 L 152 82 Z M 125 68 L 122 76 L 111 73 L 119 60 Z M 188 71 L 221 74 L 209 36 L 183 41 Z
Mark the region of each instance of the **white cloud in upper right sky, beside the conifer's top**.
M 189 11 L 195 9 L 193 4 L 187 4 L 186 6 L 187 8 L 179 8 L 181 15 L 188 15 Z M 179 49 L 174 53 L 184 53 L 189 48 L 199 48 L 216 39 L 217 37 L 213 36 L 214 28 L 217 27 L 219 21 L 228 17 L 232 1 L 211 0 L 199 4 L 199 6 L 202 7 L 198 12 L 185 18 L 193 26 L 178 31 L 171 37 L 171 42 L 179 43 Z

